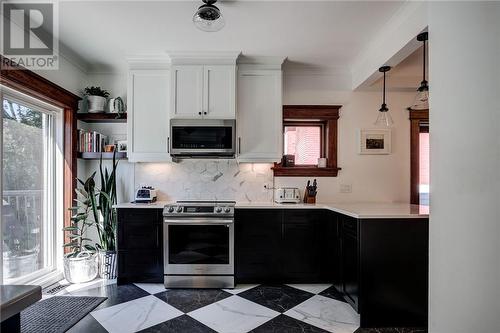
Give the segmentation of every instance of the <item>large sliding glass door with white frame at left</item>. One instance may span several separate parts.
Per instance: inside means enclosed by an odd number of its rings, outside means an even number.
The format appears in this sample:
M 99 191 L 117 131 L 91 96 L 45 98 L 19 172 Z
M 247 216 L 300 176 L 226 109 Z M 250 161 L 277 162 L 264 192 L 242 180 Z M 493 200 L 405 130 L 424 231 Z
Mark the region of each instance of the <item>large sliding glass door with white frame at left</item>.
M 29 283 L 57 266 L 61 111 L 2 90 L 2 277 Z

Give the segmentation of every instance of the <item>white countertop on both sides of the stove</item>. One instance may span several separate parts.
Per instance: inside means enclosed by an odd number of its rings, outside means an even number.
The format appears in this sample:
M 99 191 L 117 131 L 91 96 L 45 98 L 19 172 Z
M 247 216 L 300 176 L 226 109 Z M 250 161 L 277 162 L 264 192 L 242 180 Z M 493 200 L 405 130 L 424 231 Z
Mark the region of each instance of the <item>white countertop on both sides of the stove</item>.
M 115 208 L 155 208 L 162 209 L 168 201 L 157 201 L 151 204 L 120 203 Z M 382 218 L 427 218 L 429 207 L 412 205 L 408 203 L 318 203 L 318 204 L 277 204 L 274 202 L 237 202 L 236 208 L 246 209 L 328 209 L 340 214 L 358 219 L 382 219 Z

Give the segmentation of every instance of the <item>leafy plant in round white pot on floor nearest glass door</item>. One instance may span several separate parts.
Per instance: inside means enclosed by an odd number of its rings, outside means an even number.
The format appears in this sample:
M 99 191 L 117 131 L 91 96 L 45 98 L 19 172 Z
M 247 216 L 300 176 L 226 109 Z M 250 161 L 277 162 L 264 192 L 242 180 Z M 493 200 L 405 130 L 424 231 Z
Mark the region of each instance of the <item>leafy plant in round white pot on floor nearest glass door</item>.
M 88 228 L 95 225 L 89 219 L 95 201 L 95 172 L 85 182 L 78 179 L 83 188 L 75 189 L 77 206 L 70 208 L 73 211 L 71 225 L 63 228 L 69 233 L 69 242 L 64 247 L 70 249 L 64 255 L 64 277 L 70 283 L 82 283 L 95 279 L 97 276 L 96 248 L 88 244 L 91 239 L 86 238 Z

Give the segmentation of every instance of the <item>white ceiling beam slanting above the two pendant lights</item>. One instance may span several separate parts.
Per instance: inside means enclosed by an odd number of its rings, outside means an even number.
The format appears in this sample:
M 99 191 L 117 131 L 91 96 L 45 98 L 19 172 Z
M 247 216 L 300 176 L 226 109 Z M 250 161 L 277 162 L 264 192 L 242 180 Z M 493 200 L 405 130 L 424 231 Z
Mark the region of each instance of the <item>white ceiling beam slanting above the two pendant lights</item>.
M 352 89 L 371 86 L 382 65 L 396 66 L 421 45 L 416 36 L 427 28 L 427 3 L 408 1 L 371 40 L 351 66 Z

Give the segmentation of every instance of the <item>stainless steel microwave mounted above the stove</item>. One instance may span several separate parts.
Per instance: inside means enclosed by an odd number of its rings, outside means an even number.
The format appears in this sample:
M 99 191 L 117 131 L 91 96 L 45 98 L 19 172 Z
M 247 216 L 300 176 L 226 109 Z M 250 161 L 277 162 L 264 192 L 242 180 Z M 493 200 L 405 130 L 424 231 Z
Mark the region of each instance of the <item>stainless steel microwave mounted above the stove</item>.
M 176 158 L 234 158 L 234 119 L 171 119 L 170 155 Z

